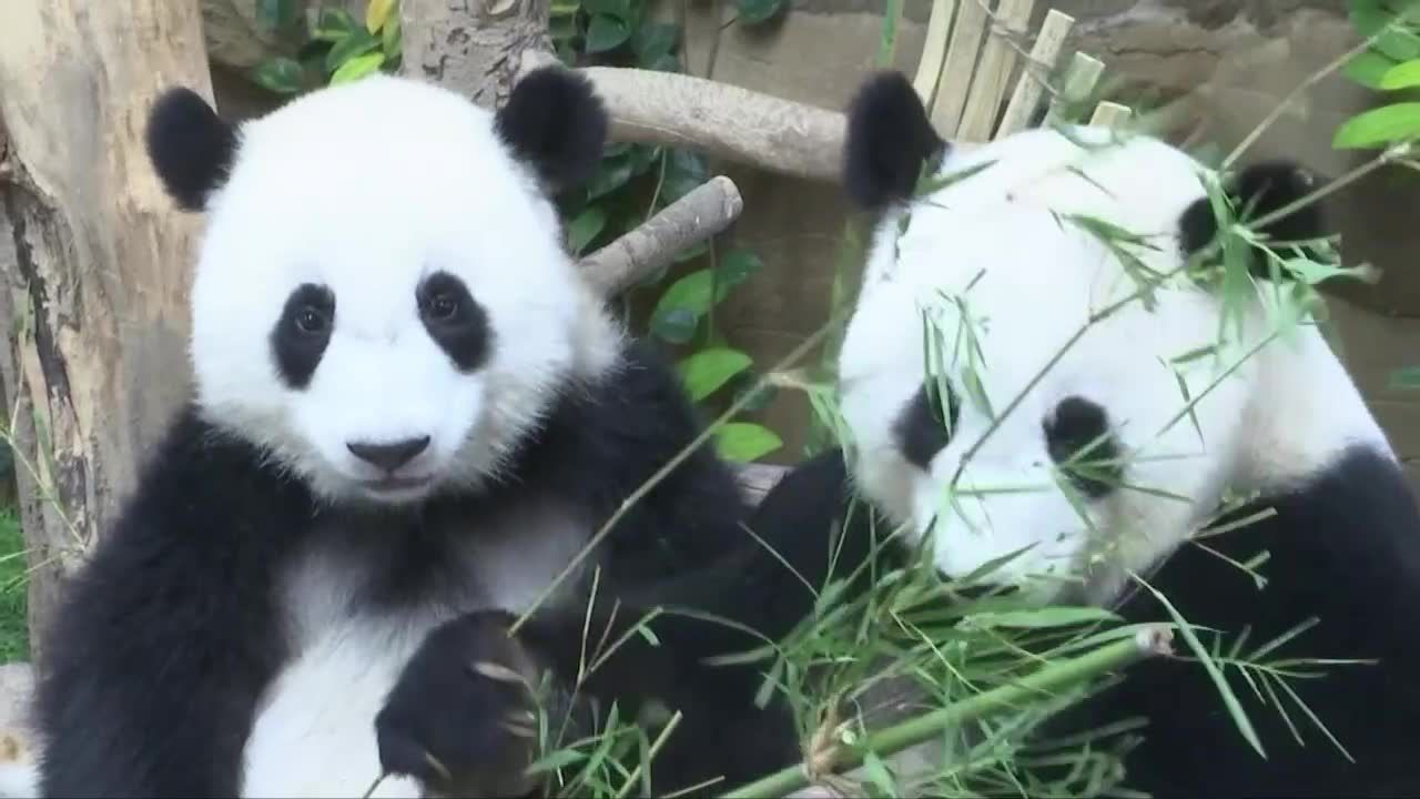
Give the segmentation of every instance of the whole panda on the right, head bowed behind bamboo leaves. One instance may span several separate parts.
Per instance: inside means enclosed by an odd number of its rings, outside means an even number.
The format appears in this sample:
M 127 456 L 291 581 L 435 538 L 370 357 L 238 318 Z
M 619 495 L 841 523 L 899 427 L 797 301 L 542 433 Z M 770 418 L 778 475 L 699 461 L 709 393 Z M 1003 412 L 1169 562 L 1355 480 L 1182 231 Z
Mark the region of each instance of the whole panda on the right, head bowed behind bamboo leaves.
M 940 181 L 914 196 L 924 165 Z M 1353 762 L 1284 698 L 1299 744 L 1231 671 L 1264 759 L 1179 640 L 1177 657 L 1133 667 L 1047 728 L 1145 717 L 1126 786 L 1420 795 L 1414 496 L 1316 327 L 1274 334 L 1271 299 L 1289 287 L 1261 249 L 1244 253 L 1252 274 L 1234 303 L 1187 267 L 1216 266 L 1204 175 L 1162 141 L 1089 128 L 954 149 L 902 75 L 869 80 L 843 173 L 851 199 L 880 215 L 839 360 L 853 482 L 909 537 L 932 535 L 946 576 L 1020 552 L 993 577 L 1032 600 L 1167 623 L 1139 576 L 1225 644 L 1247 631 L 1252 648 L 1315 618 L 1269 660 L 1376 661 L 1289 681 Z M 1225 179 L 1251 219 L 1312 189 L 1279 162 Z M 1278 216 L 1264 246 L 1315 246 L 1322 222 L 1315 206 Z M 1258 587 L 1240 564 L 1264 550 Z

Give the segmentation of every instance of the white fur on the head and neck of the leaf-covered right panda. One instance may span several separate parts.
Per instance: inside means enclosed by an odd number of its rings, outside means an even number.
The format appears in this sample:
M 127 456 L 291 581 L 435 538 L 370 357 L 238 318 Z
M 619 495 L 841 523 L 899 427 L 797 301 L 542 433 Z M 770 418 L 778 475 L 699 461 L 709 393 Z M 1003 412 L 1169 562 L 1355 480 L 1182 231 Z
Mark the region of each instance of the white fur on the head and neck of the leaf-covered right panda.
M 1078 134 L 1096 144 L 1109 135 Z M 1163 142 L 1135 136 L 1086 151 L 1048 129 L 951 155 L 941 171 L 991 161 L 913 203 L 906 233 L 897 233 L 900 212 L 883 219 L 839 361 L 859 489 L 914 535 L 927 535 L 936 519 L 930 532 L 944 573 L 960 576 L 1031 547 L 998 579 L 1045 599 L 1062 587 L 1059 580 L 1030 576 L 1083 577 L 1086 596 L 1103 600 L 1129 570 L 1146 569 L 1190 535 L 1224 488 L 1245 492 L 1302 479 L 1350 442 L 1389 452 L 1315 327 L 1272 341 L 1220 381 L 1274 330 L 1262 301 L 1247 309 L 1244 334 L 1230 337 L 1217 358 L 1179 367 L 1189 397 L 1203 397 L 1191 418 L 1179 418 L 1187 401 L 1164 364 L 1217 343 L 1221 310 L 1216 294 L 1183 280 L 1159 290 L 1152 311 L 1136 301 L 1096 320 L 1022 395 L 1091 314 L 1139 289 L 1099 237 L 1056 215 L 1102 219 L 1146 236 L 1153 249 L 1133 252 L 1169 272 L 1180 264 L 1180 215 L 1206 189 L 1203 168 Z M 966 466 L 963 458 L 991 419 L 963 387 L 964 355 L 954 365 L 950 360 L 964 330 L 953 297 L 976 320 L 991 409 L 1001 414 L 1021 397 Z M 892 434 L 923 382 L 922 313 L 939 320 L 946 374 L 961 397 L 958 425 L 930 473 L 902 458 Z M 1122 488 L 1086 502 L 1088 522 L 1081 519 L 1052 482 L 1042 432 L 1042 421 L 1071 395 L 1106 409 L 1129 459 L 1126 486 L 1183 500 Z M 947 508 L 944 488 L 958 469 L 957 505 Z M 994 492 L 963 493 L 973 488 Z

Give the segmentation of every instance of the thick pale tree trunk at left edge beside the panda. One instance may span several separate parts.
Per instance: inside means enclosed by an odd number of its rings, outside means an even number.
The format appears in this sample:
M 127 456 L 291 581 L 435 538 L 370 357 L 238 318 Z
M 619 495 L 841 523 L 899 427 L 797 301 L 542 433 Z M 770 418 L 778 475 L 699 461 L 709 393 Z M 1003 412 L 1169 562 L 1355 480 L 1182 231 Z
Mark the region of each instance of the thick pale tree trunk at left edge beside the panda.
M 38 641 L 60 580 L 189 392 L 200 222 L 163 193 L 143 129 L 162 90 L 210 100 L 212 81 L 197 0 L 6 1 L 0 30 L 0 365 Z

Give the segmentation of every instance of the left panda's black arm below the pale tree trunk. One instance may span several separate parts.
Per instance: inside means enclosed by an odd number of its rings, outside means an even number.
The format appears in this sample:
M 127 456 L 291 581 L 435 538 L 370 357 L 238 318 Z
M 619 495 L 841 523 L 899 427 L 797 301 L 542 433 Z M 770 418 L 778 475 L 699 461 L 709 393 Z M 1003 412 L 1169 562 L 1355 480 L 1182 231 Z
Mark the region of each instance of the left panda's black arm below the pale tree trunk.
M 45 796 L 234 796 L 280 661 L 270 574 L 304 492 L 185 412 L 65 586 L 37 695 Z

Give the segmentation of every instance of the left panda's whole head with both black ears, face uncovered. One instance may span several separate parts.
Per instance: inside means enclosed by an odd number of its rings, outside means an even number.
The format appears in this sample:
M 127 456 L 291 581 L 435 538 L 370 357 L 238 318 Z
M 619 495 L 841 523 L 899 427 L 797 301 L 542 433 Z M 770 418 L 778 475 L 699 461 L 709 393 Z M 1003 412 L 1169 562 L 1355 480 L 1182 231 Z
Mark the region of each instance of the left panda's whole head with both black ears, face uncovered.
M 588 84 L 528 75 L 497 114 L 375 75 L 229 127 L 187 90 L 149 155 L 206 210 L 197 402 L 327 499 L 415 500 L 494 475 L 618 328 L 562 249 L 552 191 L 589 173 Z

